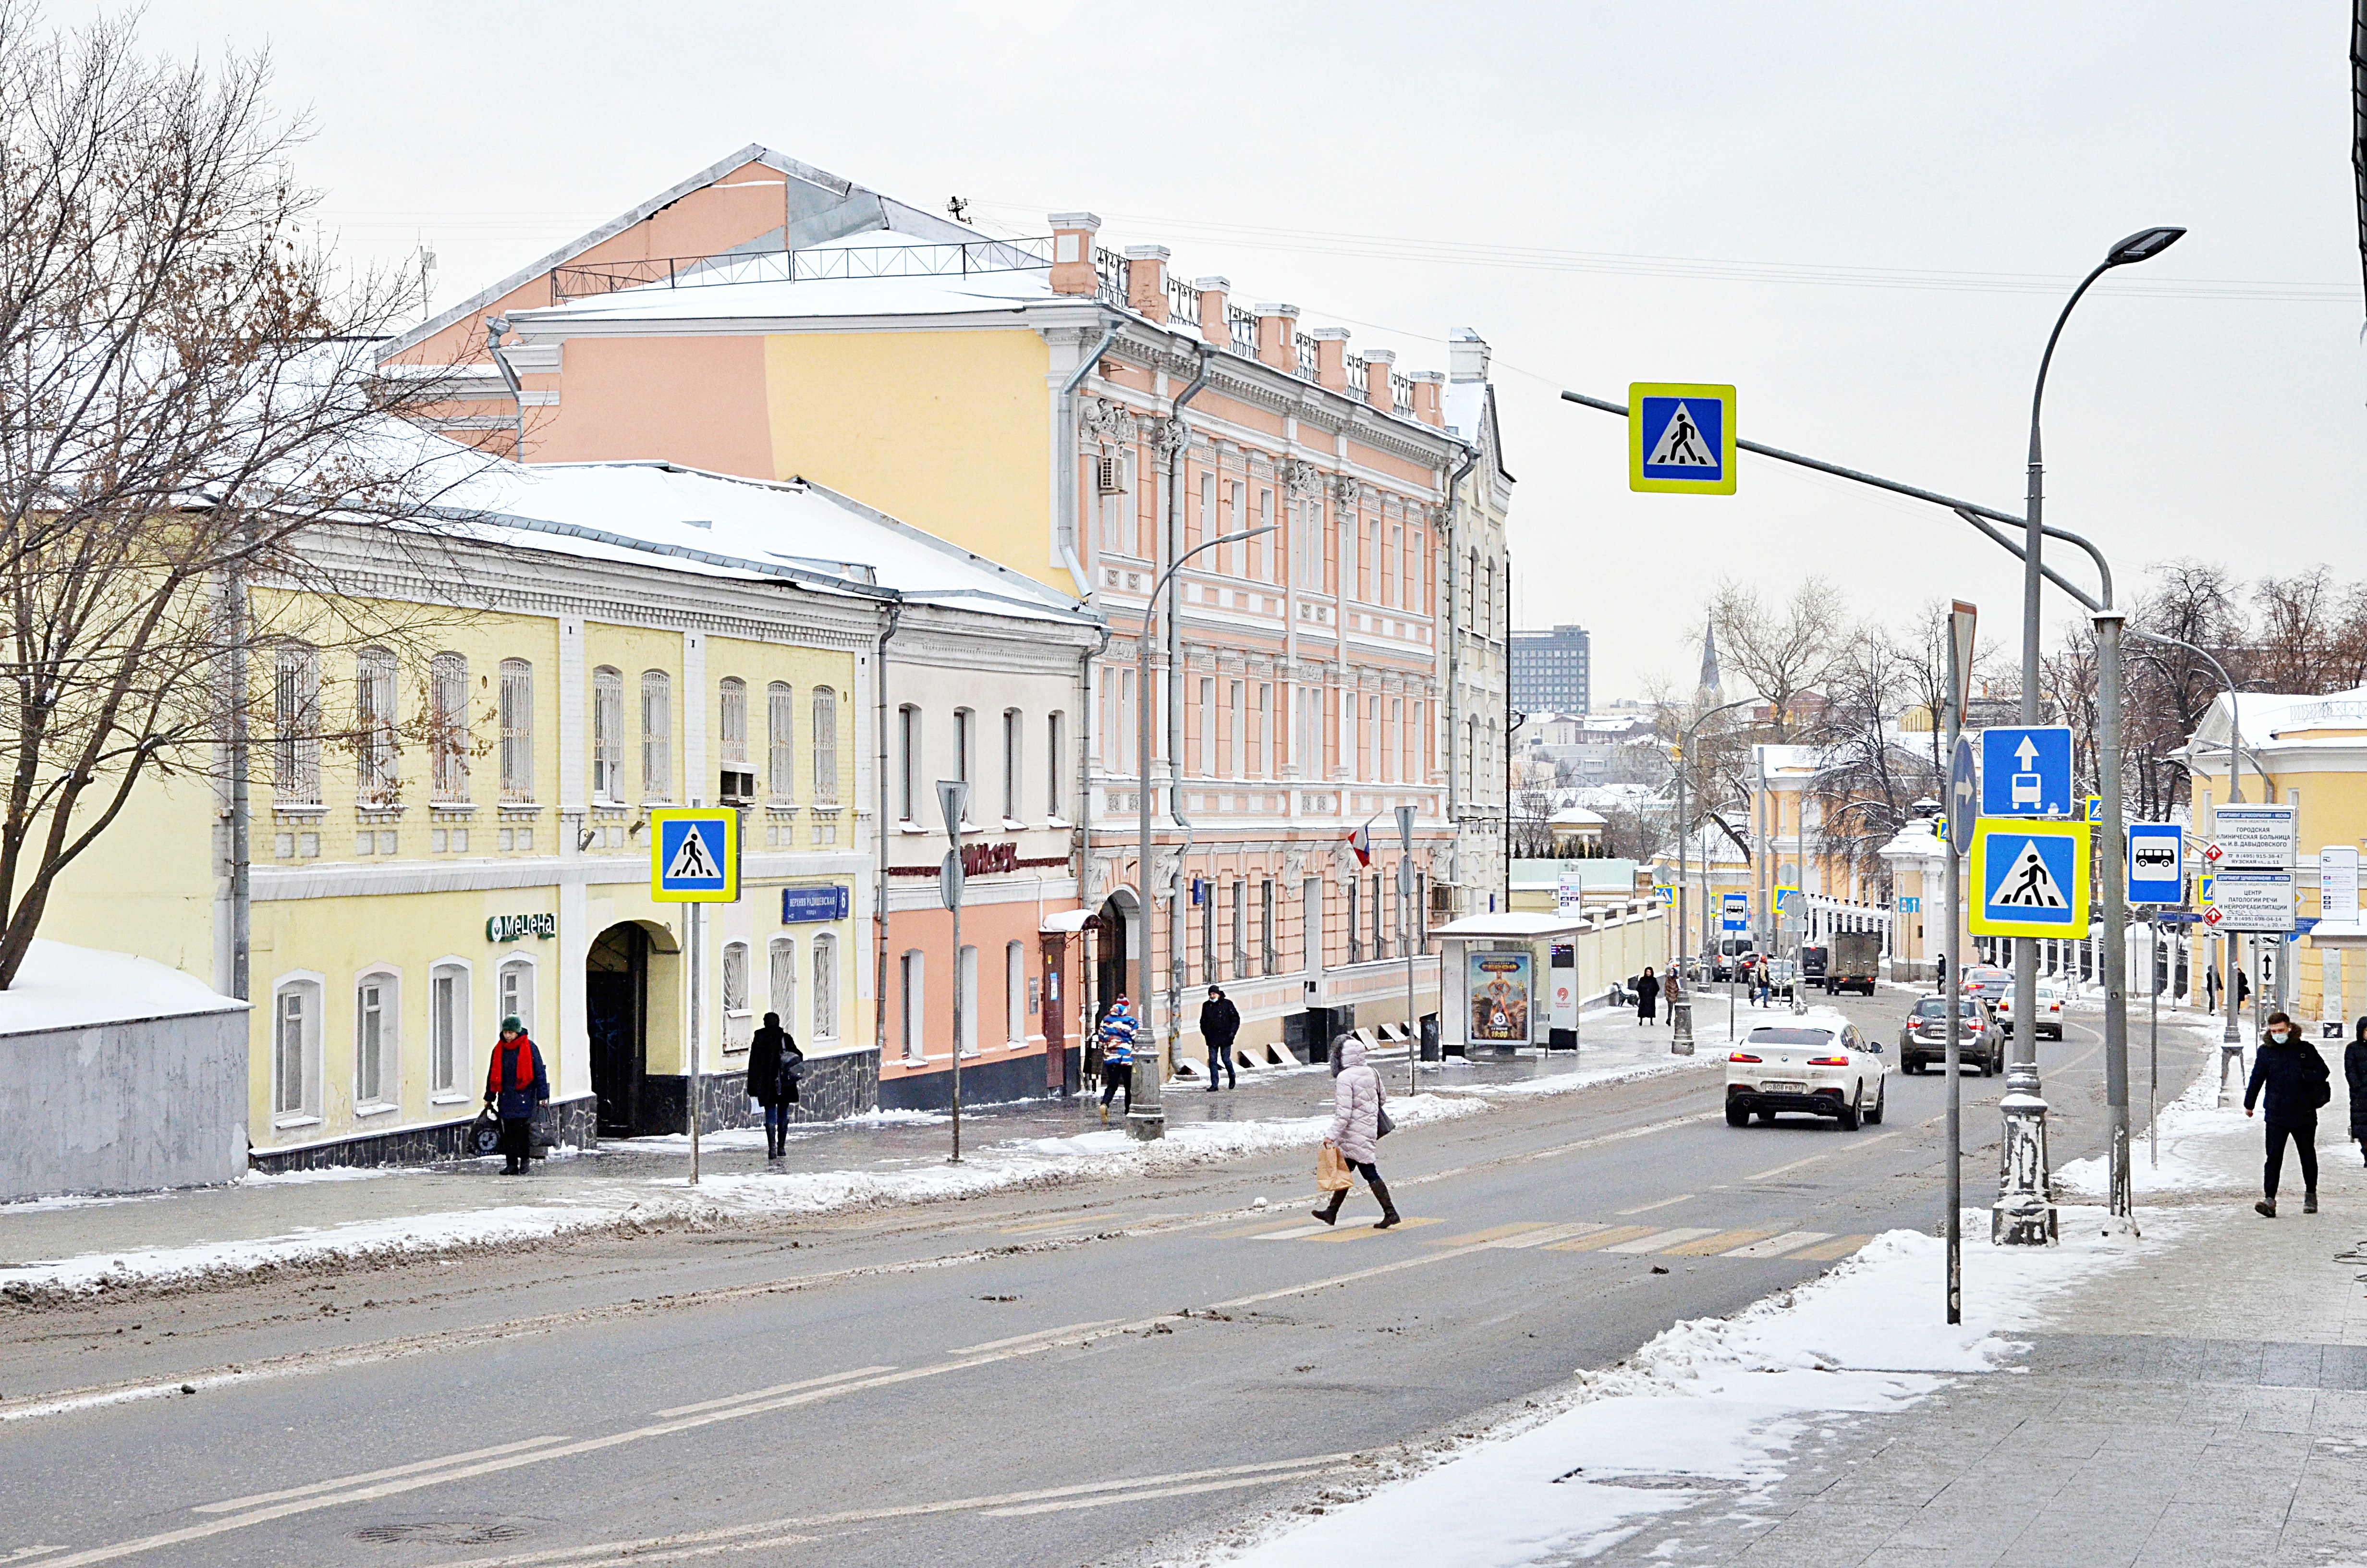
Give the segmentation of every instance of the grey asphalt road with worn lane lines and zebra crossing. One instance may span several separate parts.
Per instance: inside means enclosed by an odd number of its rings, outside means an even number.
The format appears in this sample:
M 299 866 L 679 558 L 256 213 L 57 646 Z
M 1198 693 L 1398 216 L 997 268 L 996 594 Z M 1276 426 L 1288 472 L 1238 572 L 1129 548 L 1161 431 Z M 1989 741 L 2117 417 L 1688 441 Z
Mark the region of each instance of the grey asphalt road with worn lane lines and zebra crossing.
M 1844 1000 L 1882 1040 L 1905 1004 Z M 2097 1033 L 2066 1033 L 2040 1045 L 2057 1161 L 2102 1127 Z M 2135 1080 L 2142 1120 L 2142 1045 Z M 1408 1127 L 1394 1232 L 1361 1187 L 1307 1222 L 1292 1153 L 0 1315 L 0 1563 L 1041 1566 L 1321 1506 L 1941 1220 L 1939 1075 L 1894 1073 L 1858 1132 L 1728 1127 L 1718 1082 Z M 1962 1080 L 1967 1206 L 2000 1090 Z

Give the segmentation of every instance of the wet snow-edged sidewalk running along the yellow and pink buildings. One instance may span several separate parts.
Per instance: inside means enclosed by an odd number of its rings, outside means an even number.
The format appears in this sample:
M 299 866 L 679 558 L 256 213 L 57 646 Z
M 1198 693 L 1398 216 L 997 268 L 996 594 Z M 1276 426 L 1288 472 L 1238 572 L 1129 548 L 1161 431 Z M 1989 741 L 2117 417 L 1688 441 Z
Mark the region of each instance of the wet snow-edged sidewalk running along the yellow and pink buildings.
M 1716 1054 L 1669 1054 L 1669 1030 L 1631 1014 L 1588 1014 L 1579 1052 L 1479 1054 L 1423 1063 L 1408 1097 L 1406 1052 L 1373 1059 L 1401 1125 L 1484 1113 L 1491 1104 L 1588 1085 L 1707 1068 Z M 154 1281 L 301 1265 L 322 1255 L 374 1255 L 483 1246 L 589 1229 L 637 1229 L 731 1217 L 821 1215 L 966 1199 L 1214 1165 L 1314 1149 L 1330 1108 L 1323 1066 L 1243 1073 L 1238 1090 L 1169 1082 L 1169 1132 L 1134 1144 L 1101 1125 L 1096 1101 L 1020 1101 L 963 1111 L 963 1163 L 949 1165 L 949 1118 L 881 1111 L 791 1130 L 788 1158 L 765 1163 L 762 1127 L 701 1137 L 701 1182 L 689 1187 L 689 1139 L 641 1137 L 596 1151 L 554 1151 L 528 1177 L 492 1175 L 497 1161 L 438 1168 L 338 1168 L 251 1175 L 232 1187 L 123 1199 L 43 1199 L 0 1206 L 0 1291 L 88 1289 L 102 1279 Z

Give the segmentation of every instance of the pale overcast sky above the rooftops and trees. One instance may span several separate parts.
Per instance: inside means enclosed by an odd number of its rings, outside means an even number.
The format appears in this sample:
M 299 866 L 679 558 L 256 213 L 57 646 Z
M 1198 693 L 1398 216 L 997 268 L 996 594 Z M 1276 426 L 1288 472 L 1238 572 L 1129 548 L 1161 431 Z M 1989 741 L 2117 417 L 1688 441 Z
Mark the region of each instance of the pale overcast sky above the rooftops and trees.
M 1401 369 L 1477 327 L 1517 621 L 1593 632 L 1598 706 L 1690 675 L 1718 576 L 1825 573 L 1886 621 L 1969 597 L 2002 640 L 2019 583 L 1943 512 L 1766 460 L 1733 497 L 1631 495 L 1621 424 L 1555 388 L 1733 381 L 1749 438 L 2019 512 L 2047 324 L 2156 223 L 2192 234 L 2057 355 L 2047 521 L 2123 599 L 2168 557 L 2367 576 L 2336 0 L 154 0 L 144 38 L 270 45 L 329 223 L 428 242 L 443 301 L 762 142 L 1006 232 L 1094 208 Z

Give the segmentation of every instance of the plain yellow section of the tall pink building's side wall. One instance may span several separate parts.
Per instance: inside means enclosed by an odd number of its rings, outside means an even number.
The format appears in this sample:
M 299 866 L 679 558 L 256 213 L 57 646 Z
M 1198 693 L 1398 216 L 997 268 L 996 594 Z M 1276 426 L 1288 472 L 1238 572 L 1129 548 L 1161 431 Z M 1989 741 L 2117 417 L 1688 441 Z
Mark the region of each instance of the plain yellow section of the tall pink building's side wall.
M 1051 552 L 1051 351 L 1030 329 L 765 339 L 774 474 L 1072 590 Z

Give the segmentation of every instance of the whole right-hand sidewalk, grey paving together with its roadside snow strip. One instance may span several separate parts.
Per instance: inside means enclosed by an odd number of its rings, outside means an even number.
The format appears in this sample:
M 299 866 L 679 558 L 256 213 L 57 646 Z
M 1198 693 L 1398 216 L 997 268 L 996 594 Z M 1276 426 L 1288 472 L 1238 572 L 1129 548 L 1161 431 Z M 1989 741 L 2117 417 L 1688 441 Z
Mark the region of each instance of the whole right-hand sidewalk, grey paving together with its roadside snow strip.
M 2178 1078 L 2211 1066 L 2163 1108 L 2159 1170 L 2137 1146 L 2142 1239 L 2104 1234 L 2102 1172 L 2071 1165 L 2062 1246 L 1993 1248 L 1967 1217 L 1962 1329 L 1941 1244 L 1891 1232 L 1202 1561 L 2367 1563 L 2367 1170 L 2339 1042 L 2324 1213 L 2287 1161 L 2263 1220 L 2260 1123 L 2216 1104 L 2211 1040 L 2163 1030 Z

